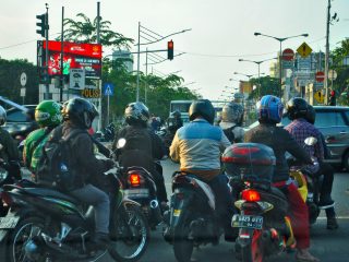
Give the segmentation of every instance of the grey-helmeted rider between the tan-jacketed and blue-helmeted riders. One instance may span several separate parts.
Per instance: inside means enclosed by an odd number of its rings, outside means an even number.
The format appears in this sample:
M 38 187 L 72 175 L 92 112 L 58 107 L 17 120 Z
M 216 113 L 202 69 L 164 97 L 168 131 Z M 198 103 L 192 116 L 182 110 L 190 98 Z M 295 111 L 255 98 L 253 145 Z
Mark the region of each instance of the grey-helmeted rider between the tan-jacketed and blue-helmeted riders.
M 243 107 L 240 104 L 230 102 L 222 107 L 219 127 L 222 129 L 230 143 L 243 141 L 244 131 L 241 128 L 242 120 Z

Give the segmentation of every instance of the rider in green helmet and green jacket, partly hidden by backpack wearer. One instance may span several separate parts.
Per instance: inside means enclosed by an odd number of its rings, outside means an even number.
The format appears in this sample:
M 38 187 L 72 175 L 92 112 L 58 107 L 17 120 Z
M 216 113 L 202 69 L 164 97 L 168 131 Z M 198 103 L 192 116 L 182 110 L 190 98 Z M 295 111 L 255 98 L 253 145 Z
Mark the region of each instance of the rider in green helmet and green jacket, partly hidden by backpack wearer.
M 33 175 L 41 156 L 43 146 L 49 136 L 48 134 L 62 122 L 61 106 L 55 100 L 43 100 L 35 108 L 35 121 L 40 128 L 28 134 L 23 150 L 24 165 Z

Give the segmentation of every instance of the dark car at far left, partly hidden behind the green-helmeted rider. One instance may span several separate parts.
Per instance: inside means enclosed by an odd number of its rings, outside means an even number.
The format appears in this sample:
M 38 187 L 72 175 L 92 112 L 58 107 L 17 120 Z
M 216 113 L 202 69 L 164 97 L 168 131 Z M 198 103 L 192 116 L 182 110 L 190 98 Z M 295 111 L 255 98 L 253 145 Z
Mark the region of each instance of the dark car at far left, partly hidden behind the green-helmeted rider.
M 28 110 L 35 110 L 36 105 L 24 105 Z M 12 107 L 7 110 L 7 123 L 3 126 L 9 133 L 15 138 L 16 135 L 26 136 L 33 131 L 33 122 L 28 121 L 26 112 L 20 108 Z

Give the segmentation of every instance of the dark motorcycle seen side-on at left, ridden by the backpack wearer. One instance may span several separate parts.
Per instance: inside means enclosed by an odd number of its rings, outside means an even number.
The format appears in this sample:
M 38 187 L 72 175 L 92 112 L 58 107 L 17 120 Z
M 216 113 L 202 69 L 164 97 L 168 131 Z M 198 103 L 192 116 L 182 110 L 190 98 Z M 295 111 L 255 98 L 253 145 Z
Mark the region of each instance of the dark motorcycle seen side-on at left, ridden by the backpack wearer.
M 145 252 L 149 230 L 140 204 L 124 196 L 120 168 L 105 172 L 113 189 L 111 242 L 96 250 L 94 209 L 62 192 L 22 180 L 5 184 L 2 200 L 11 207 L 0 218 L 5 261 L 96 261 L 109 252 L 115 261 L 134 262 Z

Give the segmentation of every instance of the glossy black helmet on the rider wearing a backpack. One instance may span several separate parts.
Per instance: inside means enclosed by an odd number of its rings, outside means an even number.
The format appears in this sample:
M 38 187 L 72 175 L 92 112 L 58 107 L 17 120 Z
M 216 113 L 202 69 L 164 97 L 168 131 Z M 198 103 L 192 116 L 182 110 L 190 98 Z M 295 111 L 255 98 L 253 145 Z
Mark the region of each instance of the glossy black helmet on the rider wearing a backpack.
M 75 97 L 63 104 L 62 116 L 64 121 L 70 120 L 77 127 L 89 129 L 98 111 L 91 102 Z

